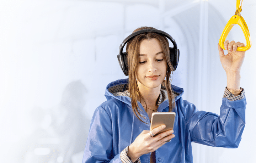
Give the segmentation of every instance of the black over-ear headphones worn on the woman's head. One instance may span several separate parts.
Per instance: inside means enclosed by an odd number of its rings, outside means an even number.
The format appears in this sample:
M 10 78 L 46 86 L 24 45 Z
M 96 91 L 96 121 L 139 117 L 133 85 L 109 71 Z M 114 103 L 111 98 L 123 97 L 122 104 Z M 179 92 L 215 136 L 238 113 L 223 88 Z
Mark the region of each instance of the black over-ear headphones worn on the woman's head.
M 142 34 L 142 33 L 148 33 L 148 32 L 154 32 L 158 33 L 160 35 L 163 35 L 167 37 L 169 40 L 171 40 L 172 44 L 174 47 L 169 47 L 170 48 L 170 58 L 171 58 L 171 64 L 174 67 L 174 71 L 176 70 L 178 66 L 178 60 L 180 58 L 180 50 L 177 48 L 177 44 L 175 40 L 170 36 L 168 33 L 158 30 L 158 29 L 142 29 L 137 32 L 134 32 L 130 34 L 126 39 L 123 40 L 122 44 L 119 46 L 119 54 L 117 55 L 119 65 L 124 73 L 124 75 L 128 75 L 128 58 L 126 52 L 123 52 L 124 45 L 133 39 L 135 36 Z

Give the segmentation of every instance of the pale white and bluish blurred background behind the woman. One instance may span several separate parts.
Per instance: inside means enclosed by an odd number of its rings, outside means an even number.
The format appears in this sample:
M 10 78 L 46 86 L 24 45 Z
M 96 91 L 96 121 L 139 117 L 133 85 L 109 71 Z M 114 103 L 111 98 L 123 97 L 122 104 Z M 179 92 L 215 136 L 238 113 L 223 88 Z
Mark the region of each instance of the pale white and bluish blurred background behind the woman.
M 243 137 L 237 149 L 193 143 L 195 163 L 256 162 L 256 1 L 242 9 L 252 41 L 241 70 Z M 0 162 L 81 163 L 106 85 L 127 78 L 119 45 L 141 26 L 176 40 L 172 84 L 199 110 L 219 114 L 226 75 L 217 43 L 235 10 L 236 0 L 0 0 Z M 246 43 L 238 25 L 227 39 Z

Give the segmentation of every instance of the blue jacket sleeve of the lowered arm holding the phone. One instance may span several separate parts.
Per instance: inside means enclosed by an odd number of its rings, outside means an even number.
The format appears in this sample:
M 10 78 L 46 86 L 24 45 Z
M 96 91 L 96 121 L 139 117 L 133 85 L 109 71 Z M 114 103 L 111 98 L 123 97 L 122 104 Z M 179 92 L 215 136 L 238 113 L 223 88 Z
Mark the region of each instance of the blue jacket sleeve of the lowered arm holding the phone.
M 120 153 L 114 154 L 112 140 L 111 118 L 98 107 L 92 116 L 82 163 L 122 163 Z

